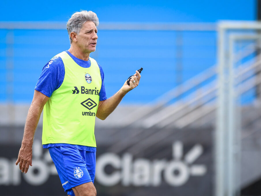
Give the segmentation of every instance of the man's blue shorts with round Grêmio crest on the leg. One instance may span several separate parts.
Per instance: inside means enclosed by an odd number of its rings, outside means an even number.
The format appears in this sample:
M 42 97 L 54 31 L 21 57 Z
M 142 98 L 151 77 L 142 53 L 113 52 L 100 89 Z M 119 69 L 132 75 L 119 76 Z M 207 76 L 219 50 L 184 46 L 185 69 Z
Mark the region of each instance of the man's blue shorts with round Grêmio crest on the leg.
M 50 147 L 48 150 L 68 195 L 74 196 L 72 187 L 94 182 L 96 152 L 65 146 Z

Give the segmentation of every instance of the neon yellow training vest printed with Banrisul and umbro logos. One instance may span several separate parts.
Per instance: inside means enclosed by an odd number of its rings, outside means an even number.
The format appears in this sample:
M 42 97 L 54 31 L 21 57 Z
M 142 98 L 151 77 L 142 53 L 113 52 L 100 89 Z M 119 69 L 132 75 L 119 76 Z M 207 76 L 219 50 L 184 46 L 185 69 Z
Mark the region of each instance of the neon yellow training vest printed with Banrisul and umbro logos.
M 42 144 L 96 147 L 94 126 L 102 86 L 99 66 L 91 57 L 89 68 L 76 64 L 66 52 L 55 57 L 63 60 L 65 75 L 44 106 Z

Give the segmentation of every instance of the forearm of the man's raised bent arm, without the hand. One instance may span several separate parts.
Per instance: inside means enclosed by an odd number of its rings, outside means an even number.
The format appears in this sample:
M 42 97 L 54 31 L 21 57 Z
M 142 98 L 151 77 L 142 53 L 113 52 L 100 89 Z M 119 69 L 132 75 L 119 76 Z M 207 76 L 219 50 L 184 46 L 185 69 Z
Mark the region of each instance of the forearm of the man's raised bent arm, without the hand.
M 123 92 L 122 89 L 120 89 L 117 93 L 115 93 L 110 98 L 99 102 L 99 107 L 97 110 L 96 116 L 99 119 L 105 120 L 110 113 L 114 111 L 114 109 L 119 105 L 122 98 L 127 94 L 127 92 Z

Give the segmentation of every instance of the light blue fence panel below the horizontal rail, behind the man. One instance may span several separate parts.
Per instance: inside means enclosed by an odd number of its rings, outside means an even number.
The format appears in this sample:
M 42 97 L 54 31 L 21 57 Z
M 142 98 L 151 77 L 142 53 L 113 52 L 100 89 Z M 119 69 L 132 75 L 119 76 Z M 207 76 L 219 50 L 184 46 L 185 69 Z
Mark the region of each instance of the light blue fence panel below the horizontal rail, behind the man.
M 0 101 L 30 103 L 42 68 L 70 48 L 66 30 L 0 30 Z M 107 96 L 143 67 L 123 103 L 155 100 L 216 61 L 216 31 L 99 30 L 91 57 L 105 73 Z

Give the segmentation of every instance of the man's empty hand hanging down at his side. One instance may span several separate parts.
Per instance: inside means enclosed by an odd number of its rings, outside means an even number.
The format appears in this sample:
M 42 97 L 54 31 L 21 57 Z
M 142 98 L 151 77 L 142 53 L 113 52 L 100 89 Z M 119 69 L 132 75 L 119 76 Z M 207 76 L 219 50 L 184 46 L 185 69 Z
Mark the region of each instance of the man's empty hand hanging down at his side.
M 32 165 L 32 145 L 31 144 L 23 144 L 19 150 L 18 158 L 16 160 L 16 165 L 19 163 L 19 169 L 22 170 L 22 173 L 27 173 L 29 169 L 29 165 Z

